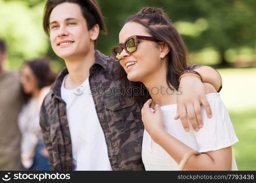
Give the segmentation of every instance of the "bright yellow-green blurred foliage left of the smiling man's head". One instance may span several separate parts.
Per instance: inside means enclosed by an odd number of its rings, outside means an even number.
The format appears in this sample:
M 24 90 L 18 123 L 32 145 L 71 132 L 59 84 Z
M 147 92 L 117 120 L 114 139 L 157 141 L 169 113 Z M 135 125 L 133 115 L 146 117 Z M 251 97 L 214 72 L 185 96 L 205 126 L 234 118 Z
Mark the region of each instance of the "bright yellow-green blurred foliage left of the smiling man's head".
M 0 37 L 7 42 L 7 67 L 20 68 L 25 60 L 44 56 L 48 49 L 42 32 L 44 2 L 29 7 L 26 1 L 0 1 Z

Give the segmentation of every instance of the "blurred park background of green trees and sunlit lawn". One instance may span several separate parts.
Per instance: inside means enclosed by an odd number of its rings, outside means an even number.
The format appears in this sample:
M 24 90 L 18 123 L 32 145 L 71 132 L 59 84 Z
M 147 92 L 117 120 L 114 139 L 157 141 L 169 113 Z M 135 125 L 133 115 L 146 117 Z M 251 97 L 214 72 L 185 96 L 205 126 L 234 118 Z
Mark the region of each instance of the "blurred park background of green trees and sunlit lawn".
M 5 69 L 20 70 L 48 56 L 59 72 L 64 61 L 52 51 L 42 29 L 46 0 L 0 0 L 0 38 L 8 46 Z M 233 146 L 239 170 L 256 170 L 256 1 L 255 0 L 97 0 L 108 35 L 97 49 L 105 55 L 118 44 L 126 18 L 142 7 L 162 7 L 182 35 L 189 62 L 216 68 L 224 101 L 239 142 Z

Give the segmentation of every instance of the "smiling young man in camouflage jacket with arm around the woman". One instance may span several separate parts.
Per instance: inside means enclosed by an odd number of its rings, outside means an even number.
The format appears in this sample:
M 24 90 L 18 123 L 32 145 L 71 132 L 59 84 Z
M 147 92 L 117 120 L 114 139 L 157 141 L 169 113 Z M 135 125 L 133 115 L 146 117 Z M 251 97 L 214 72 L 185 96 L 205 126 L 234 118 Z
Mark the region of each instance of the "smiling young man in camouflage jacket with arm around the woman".
M 99 5 L 95 0 L 48 0 L 44 30 L 67 66 L 41 108 L 40 125 L 53 170 L 143 170 L 141 108 L 145 101 L 110 92 L 122 86 L 119 73 L 123 69 L 112 56 L 94 49 L 99 31 L 106 33 Z M 204 82 L 220 87 L 214 69 L 197 71 Z M 197 91 L 204 85 L 196 76 L 184 76 L 180 86 L 179 108 L 186 107 L 183 101 L 200 106 L 198 98 L 206 100 L 205 93 Z M 189 118 L 198 128 L 196 117 L 201 112 L 193 110 L 188 111 Z M 209 107 L 207 111 L 210 114 Z M 186 110 L 178 113 L 187 127 Z

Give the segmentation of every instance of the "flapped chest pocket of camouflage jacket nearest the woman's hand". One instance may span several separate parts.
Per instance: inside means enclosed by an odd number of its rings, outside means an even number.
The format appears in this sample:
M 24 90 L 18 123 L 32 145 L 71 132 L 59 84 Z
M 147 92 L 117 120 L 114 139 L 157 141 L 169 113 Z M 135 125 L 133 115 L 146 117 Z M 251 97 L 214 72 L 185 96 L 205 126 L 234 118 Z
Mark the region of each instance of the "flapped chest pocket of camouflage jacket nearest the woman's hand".
M 142 125 L 141 110 L 136 100 L 112 96 L 105 99 L 105 105 L 108 109 L 106 118 L 110 128 L 115 127 L 124 132 Z

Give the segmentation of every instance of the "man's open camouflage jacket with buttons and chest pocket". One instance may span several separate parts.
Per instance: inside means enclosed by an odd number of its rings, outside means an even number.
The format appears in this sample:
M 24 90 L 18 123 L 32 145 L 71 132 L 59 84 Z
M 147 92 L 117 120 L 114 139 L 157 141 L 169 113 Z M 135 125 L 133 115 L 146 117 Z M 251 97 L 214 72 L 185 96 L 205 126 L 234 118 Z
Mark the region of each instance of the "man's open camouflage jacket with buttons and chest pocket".
M 144 126 L 141 108 L 145 101 L 109 94 L 108 90 L 121 87 L 122 67 L 99 51 L 90 68 L 89 83 L 97 116 L 105 135 L 108 157 L 113 170 L 144 170 L 141 145 Z M 60 87 L 64 68 L 47 94 L 41 107 L 40 126 L 49 162 L 53 170 L 73 170 L 72 142 L 67 122 L 66 103 L 61 98 Z M 103 94 L 100 92 L 105 88 Z M 95 92 L 97 90 L 97 92 Z M 86 112 L 86 111 L 85 111 Z

